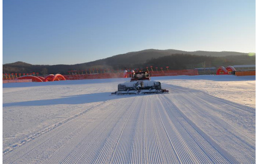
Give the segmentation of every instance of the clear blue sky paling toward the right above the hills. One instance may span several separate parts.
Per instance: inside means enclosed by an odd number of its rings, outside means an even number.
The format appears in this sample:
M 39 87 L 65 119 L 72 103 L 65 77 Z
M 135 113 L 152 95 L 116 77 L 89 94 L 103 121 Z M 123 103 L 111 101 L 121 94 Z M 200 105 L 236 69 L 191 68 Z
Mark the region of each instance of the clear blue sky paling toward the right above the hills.
M 255 0 L 3 0 L 3 64 L 149 48 L 255 52 Z

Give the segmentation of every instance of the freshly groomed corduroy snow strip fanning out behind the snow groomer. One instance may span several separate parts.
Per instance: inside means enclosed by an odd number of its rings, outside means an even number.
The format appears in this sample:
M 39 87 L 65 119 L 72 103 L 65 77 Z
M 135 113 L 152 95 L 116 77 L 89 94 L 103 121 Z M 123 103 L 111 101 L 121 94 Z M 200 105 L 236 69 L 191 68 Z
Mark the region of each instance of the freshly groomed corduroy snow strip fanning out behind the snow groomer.
M 4 154 L 3 163 L 255 163 L 255 109 L 163 88 L 170 93 L 93 106 Z

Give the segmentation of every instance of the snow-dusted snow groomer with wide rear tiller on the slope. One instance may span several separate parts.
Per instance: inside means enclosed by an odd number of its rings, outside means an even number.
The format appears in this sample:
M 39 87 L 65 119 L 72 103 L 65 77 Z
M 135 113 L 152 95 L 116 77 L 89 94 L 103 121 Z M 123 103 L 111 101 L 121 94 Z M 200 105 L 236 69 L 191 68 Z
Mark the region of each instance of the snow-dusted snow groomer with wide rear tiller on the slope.
M 168 93 L 169 91 L 161 88 L 158 81 L 150 81 L 148 72 L 134 72 L 129 82 L 118 84 L 118 91 L 111 93 L 116 95 L 127 94 L 150 94 Z

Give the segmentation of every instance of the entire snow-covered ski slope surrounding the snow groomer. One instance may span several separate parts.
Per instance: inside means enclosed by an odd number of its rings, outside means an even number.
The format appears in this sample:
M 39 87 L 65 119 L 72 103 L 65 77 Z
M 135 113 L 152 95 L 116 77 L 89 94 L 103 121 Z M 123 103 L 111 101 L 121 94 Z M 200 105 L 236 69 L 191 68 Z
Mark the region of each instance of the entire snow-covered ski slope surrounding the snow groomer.
M 255 76 L 3 84 L 3 163 L 255 163 Z

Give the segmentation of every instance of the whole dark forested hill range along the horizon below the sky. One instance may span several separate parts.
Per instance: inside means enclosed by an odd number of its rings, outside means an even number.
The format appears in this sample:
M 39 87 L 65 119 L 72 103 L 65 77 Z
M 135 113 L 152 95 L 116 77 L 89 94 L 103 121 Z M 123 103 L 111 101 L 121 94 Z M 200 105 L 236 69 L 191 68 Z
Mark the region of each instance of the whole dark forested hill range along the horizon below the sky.
M 225 51 L 187 52 L 181 50 L 148 49 L 75 65 L 32 65 L 19 61 L 16 63 L 4 64 L 3 73 L 39 72 L 40 74 L 67 74 L 67 71 L 70 70 L 85 70 L 89 68 L 110 68 L 117 70 L 127 68 L 145 68 L 146 66 L 169 66 L 170 69 L 191 69 L 202 67 L 202 63 L 215 67 L 239 64 L 255 64 L 255 53 L 254 56 L 248 56 L 247 53 Z

